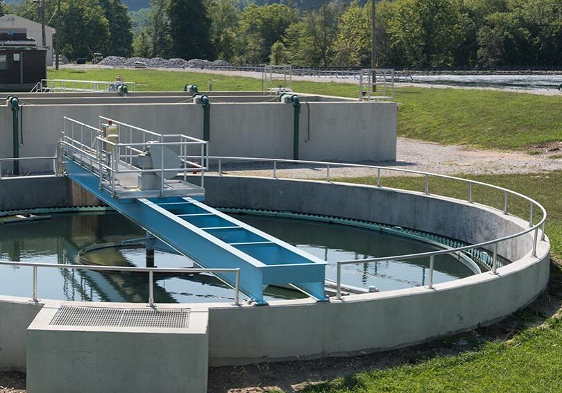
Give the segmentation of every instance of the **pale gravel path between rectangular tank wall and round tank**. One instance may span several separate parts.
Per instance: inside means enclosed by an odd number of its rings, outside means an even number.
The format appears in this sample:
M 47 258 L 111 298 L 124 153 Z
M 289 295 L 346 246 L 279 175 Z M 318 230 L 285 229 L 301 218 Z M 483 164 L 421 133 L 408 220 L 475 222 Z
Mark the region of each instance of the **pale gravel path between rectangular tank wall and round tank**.
M 559 147 L 562 151 L 562 143 Z M 562 156 L 556 148 L 549 153 L 529 155 L 525 152 L 505 152 L 499 150 L 477 150 L 464 146 L 441 146 L 438 143 L 422 142 L 398 138 L 398 157 L 396 161 L 361 162 L 389 168 L 412 171 L 457 174 L 509 174 L 540 173 L 562 169 Z M 552 158 L 550 158 L 552 157 Z M 559 158 L 556 158 L 559 157 Z M 230 175 L 271 176 L 271 163 L 223 164 L 223 171 Z M 364 177 L 376 175 L 373 168 L 330 168 L 330 177 Z M 382 171 L 383 176 L 408 175 L 395 171 Z M 323 178 L 325 166 L 278 164 L 278 176 L 288 178 Z

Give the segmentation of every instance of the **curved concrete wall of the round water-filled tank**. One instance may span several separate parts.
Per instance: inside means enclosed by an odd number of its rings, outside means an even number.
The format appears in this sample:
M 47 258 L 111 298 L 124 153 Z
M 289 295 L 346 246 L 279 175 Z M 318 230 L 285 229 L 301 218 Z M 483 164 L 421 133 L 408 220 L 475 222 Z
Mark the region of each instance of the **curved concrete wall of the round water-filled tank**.
M 46 206 L 45 201 L 62 190 L 71 202 L 71 188 L 55 186 L 67 180 L 52 181 L 42 190 L 33 189 L 28 201 L 35 198 L 38 206 Z M 17 183 L 21 183 L 19 190 L 33 184 L 33 180 L 10 182 L 12 191 L 17 190 Z M 208 202 L 216 206 L 375 220 L 470 243 L 528 228 L 526 220 L 478 204 L 373 186 L 248 177 L 208 177 L 206 186 Z M 6 208 L 1 206 L 5 203 L 0 198 L 0 209 Z M 13 206 L 15 201 L 10 203 Z M 531 245 L 531 234 L 502 244 L 500 254 L 511 257 L 513 263 L 499 268 L 497 275 L 485 272 L 440 283 L 431 290 L 352 295 L 329 303 L 305 299 L 269 306 L 207 304 L 210 365 L 381 351 L 489 324 L 529 304 L 546 288 L 550 243 L 538 242 L 536 258 L 531 256 Z M 0 298 L 0 368 L 25 366 L 24 333 L 37 314 L 34 307 L 27 299 Z

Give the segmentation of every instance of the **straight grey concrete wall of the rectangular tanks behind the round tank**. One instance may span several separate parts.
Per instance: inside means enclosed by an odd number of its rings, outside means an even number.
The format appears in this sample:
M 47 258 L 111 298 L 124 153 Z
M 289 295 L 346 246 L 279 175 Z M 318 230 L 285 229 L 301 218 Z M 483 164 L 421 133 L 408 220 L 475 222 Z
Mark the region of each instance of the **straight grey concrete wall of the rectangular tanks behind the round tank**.
M 20 157 L 55 155 L 63 116 L 97 127 L 98 116 L 103 115 L 159 133 L 203 138 L 203 109 L 193 103 L 100 105 L 83 104 L 76 98 L 73 105 L 24 105 L 20 114 L 23 123 Z M 394 160 L 396 121 L 395 103 L 303 104 L 299 158 Z M 293 158 L 293 107 L 290 104 L 213 103 L 210 123 L 211 155 Z M 0 137 L 6 141 L 0 145 L 0 158 L 13 157 L 12 112 L 5 106 L 0 106 Z M 7 164 L 2 167 L 6 168 Z M 51 163 L 29 161 L 22 162 L 21 167 L 23 171 L 48 171 Z

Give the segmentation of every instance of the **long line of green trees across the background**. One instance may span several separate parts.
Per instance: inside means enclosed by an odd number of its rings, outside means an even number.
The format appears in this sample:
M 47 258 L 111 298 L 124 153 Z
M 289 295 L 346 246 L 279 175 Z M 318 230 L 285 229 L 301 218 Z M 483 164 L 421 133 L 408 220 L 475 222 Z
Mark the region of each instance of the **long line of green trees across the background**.
M 56 1 L 46 4 L 49 18 Z M 151 0 L 133 15 L 134 33 L 121 0 L 62 4 L 69 58 L 101 51 L 233 64 L 371 64 L 371 0 Z M 26 0 L 12 11 L 30 7 Z M 375 7 L 379 67 L 562 64 L 561 0 L 380 0 Z M 22 16 L 37 19 L 36 12 Z

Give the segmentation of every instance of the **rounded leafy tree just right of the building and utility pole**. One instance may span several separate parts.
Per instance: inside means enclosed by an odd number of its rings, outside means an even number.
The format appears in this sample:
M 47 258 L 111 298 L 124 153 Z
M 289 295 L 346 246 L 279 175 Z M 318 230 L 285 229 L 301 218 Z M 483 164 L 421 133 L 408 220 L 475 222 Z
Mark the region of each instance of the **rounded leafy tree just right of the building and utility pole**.
M 62 54 L 68 58 L 90 58 L 92 52 L 107 52 L 110 42 L 108 19 L 98 0 L 62 3 L 60 24 Z

